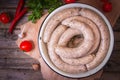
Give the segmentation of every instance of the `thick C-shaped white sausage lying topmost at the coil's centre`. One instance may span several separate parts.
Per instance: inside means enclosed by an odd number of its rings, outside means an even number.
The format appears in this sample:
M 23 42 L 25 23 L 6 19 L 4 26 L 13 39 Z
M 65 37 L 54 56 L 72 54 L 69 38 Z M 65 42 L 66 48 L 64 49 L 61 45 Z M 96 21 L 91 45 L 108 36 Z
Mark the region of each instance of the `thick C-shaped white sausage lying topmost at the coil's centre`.
M 94 44 L 94 34 L 90 27 L 83 22 L 69 19 L 67 21 L 64 20 L 62 24 L 80 30 L 83 33 L 84 40 L 81 45 L 75 48 L 57 46 L 55 49 L 56 53 L 66 58 L 78 58 L 86 55 Z

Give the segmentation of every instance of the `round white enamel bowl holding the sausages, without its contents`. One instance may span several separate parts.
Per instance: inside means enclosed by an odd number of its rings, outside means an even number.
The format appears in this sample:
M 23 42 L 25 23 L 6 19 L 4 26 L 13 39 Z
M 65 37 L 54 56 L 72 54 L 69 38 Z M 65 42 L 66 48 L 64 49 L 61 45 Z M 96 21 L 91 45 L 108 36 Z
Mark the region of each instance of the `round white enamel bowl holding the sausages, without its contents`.
M 92 69 L 92 70 L 89 70 L 87 72 L 84 72 L 84 73 L 79 73 L 79 74 L 70 74 L 70 73 L 65 73 L 61 70 L 59 70 L 57 67 L 55 67 L 52 62 L 50 61 L 49 59 L 49 56 L 48 56 L 48 53 L 47 53 L 47 49 L 46 49 L 46 46 L 45 46 L 45 43 L 43 42 L 42 38 L 43 38 L 43 33 L 44 33 L 44 29 L 45 29 L 45 26 L 46 26 L 46 23 L 49 21 L 49 19 L 57 12 L 63 10 L 63 9 L 66 9 L 66 8 L 72 8 L 72 7 L 80 7 L 80 8 L 88 8 L 88 9 L 91 9 L 95 12 L 97 12 L 102 18 L 103 20 L 106 22 L 107 26 L 108 26 L 108 29 L 109 29 L 109 32 L 110 32 L 110 46 L 109 46 L 109 50 L 108 50 L 108 53 L 107 53 L 107 56 L 105 57 L 105 59 L 103 60 L 103 62 L 97 66 L 96 68 Z M 39 50 L 40 50 L 40 53 L 41 53 L 41 56 L 42 58 L 44 59 L 44 61 L 46 62 L 46 64 L 52 69 L 54 70 L 55 72 L 57 72 L 58 74 L 61 74 L 63 76 L 66 76 L 66 77 L 71 77 L 71 78 L 82 78 L 82 77 L 87 77 L 87 76 L 90 76 L 96 72 L 98 72 L 100 69 L 103 68 L 103 66 L 107 63 L 107 61 L 109 60 L 110 58 L 110 55 L 112 53 L 112 50 L 113 50 L 113 45 L 114 45 L 114 36 L 113 36 L 113 31 L 112 31 L 112 27 L 108 21 L 108 19 L 99 11 L 97 10 L 96 8 L 92 7 L 92 6 L 89 6 L 89 5 L 86 5 L 86 4 L 81 4 L 81 3 L 72 3 L 72 4 L 67 4 L 67 5 L 63 5 L 59 8 L 57 8 L 56 10 L 54 10 L 51 14 L 48 15 L 48 17 L 45 19 L 45 21 L 43 22 L 42 26 L 41 26 L 41 29 L 39 31 L 39 36 L 38 36 L 38 43 L 39 43 Z

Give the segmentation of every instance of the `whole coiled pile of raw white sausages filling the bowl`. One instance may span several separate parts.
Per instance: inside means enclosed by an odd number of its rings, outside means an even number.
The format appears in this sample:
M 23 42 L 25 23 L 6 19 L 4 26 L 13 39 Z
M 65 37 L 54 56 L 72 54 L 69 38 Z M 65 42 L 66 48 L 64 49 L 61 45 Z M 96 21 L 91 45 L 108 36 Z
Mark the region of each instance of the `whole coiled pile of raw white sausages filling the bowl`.
M 76 74 L 94 69 L 104 60 L 110 34 L 96 12 L 75 7 L 50 18 L 43 41 L 51 62 L 64 72 Z

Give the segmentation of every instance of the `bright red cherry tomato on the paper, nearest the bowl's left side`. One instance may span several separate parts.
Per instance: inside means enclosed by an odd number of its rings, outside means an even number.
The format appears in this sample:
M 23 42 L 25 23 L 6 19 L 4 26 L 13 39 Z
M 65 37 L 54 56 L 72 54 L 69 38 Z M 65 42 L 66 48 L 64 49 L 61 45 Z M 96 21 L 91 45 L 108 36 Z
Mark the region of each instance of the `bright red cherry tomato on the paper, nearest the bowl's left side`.
M 31 51 L 33 48 L 33 45 L 32 45 L 32 42 L 31 41 L 23 41 L 20 43 L 20 49 L 25 51 L 25 52 L 28 52 L 28 51 Z

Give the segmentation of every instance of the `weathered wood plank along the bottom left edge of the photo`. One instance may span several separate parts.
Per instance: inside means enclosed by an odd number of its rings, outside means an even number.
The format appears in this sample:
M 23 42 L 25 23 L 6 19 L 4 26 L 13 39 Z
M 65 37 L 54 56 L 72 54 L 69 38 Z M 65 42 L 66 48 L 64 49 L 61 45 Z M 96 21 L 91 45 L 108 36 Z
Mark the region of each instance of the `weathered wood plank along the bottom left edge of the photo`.
M 0 80 L 43 80 L 40 71 L 0 69 Z

